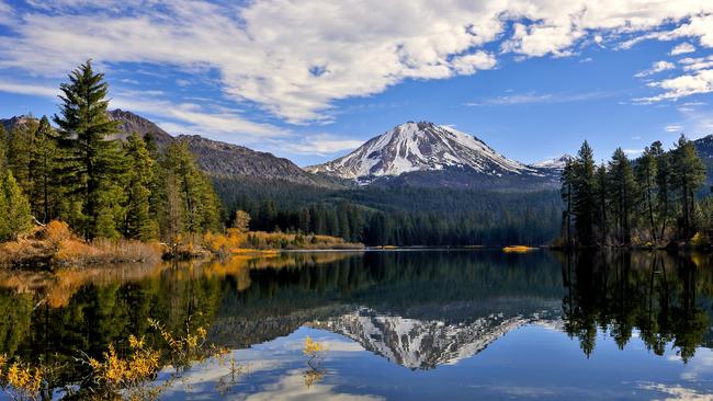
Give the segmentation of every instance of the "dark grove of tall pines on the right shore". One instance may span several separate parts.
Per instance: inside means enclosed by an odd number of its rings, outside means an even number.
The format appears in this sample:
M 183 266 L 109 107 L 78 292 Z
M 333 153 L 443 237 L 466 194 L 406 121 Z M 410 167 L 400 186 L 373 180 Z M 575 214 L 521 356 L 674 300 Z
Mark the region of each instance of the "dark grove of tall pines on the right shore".
M 562 174 L 561 244 L 661 247 L 702 241 L 713 222 L 705 217 L 713 215 L 710 197 L 697 196 L 704 182 L 705 165 L 684 136 L 670 151 L 655 141 L 633 161 L 619 148 L 599 165 L 585 141 Z

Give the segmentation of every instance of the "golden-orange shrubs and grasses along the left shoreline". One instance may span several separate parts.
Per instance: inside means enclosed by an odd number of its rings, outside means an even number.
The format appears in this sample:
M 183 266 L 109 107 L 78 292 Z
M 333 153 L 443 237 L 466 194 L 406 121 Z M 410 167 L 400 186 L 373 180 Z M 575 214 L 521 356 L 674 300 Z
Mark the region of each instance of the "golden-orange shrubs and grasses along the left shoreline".
M 158 241 L 94 239 L 73 234 L 66 222 L 53 220 L 0 243 L 0 267 L 82 267 L 98 264 L 155 263 L 161 260 L 195 260 L 233 255 L 269 255 L 282 250 L 360 250 L 360 243 L 341 238 L 283 232 L 227 229 L 180 238 L 173 245 Z

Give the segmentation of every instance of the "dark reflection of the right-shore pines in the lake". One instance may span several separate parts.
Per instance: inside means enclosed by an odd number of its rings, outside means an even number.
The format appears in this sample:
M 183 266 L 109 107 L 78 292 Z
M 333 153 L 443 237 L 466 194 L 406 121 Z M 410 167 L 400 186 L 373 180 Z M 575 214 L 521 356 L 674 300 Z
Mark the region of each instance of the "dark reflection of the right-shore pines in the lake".
M 579 339 L 587 356 L 598 329 L 622 350 L 637 329 L 649 351 L 663 355 L 670 343 L 683 362 L 710 344 L 710 256 L 618 252 L 559 259 L 565 331 Z

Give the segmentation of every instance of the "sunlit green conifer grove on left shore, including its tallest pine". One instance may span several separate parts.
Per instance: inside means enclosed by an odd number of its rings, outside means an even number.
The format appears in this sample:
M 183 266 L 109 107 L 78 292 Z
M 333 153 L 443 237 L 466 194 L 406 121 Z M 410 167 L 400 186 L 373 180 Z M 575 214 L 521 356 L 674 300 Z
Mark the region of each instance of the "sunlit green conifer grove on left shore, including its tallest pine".
M 56 129 L 46 116 L 0 127 L 0 241 L 33 220 L 64 220 L 88 240 L 168 242 L 220 229 L 220 202 L 185 144 L 159 153 L 150 136 L 115 139 L 103 78 L 90 61 L 69 75 Z

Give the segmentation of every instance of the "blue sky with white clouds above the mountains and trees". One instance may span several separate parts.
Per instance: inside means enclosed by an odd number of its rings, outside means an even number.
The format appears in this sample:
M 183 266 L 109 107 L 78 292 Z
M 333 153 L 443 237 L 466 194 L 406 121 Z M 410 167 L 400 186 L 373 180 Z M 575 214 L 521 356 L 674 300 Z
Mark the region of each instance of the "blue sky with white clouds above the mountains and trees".
M 407 121 L 536 162 L 713 134 L 711 0 L 0 0 L 0 118 L 110 108 L 308 165 Z

